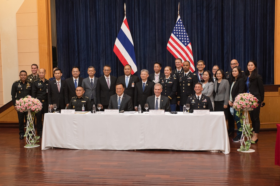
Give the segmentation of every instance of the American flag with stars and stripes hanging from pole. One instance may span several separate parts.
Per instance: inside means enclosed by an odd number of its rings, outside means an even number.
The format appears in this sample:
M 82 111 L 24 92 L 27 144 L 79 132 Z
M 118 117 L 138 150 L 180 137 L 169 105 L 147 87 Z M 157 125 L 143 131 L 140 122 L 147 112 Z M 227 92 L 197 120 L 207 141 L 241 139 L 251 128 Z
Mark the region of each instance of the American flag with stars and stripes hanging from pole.
M 192 44 L 180 15 L 167 43 L 167 50 L 175 57 L 183 61 L 190 61 L 190 71 L 195 71 L 192 54 Z

